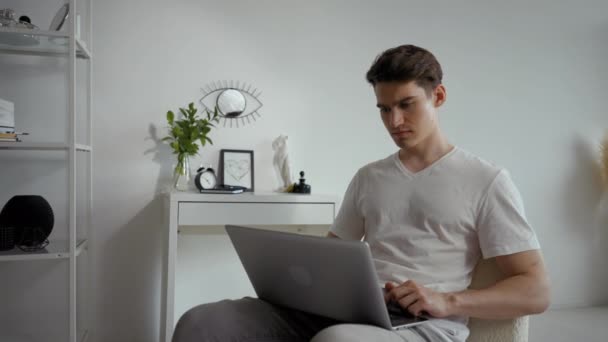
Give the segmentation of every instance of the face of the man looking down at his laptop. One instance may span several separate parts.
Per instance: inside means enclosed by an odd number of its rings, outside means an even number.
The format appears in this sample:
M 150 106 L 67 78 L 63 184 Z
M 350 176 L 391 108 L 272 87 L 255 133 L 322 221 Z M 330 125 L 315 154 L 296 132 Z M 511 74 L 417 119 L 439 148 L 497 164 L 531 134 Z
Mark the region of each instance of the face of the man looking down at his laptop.
M 437 132 L 437 108 L 445 100 L 442 85 L 430 96 L 415 81 L 377 83 L 374 92 L 384 126 L 400 148 L 414 147 Z

